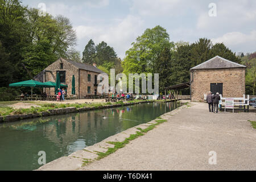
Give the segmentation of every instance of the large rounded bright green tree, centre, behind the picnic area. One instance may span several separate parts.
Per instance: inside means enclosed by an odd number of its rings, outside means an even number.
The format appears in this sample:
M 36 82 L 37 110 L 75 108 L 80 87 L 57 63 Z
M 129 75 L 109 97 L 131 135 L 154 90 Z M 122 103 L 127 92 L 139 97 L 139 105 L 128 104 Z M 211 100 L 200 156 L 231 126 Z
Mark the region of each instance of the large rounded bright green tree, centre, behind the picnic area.
M 166 29 L 160 26 L 147 28 L 131 45 L 123 61 L 125 73 L 155 73 L 163 47 L 174 48 Z

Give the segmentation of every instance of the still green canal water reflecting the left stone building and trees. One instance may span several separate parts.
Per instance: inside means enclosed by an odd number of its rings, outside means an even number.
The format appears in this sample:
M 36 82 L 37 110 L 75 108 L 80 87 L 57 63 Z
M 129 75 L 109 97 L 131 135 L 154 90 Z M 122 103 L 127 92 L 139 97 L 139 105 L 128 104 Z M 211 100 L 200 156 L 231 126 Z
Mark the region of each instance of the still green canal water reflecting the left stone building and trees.
M 37 169 L 42 166 L 38 164 L 39 151 L 46 152 L 48 163 L 178 106 L 176 102 L 146 103 L 2 123 L 0 170 Z

